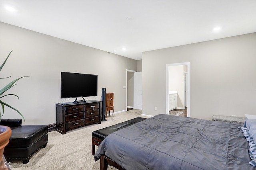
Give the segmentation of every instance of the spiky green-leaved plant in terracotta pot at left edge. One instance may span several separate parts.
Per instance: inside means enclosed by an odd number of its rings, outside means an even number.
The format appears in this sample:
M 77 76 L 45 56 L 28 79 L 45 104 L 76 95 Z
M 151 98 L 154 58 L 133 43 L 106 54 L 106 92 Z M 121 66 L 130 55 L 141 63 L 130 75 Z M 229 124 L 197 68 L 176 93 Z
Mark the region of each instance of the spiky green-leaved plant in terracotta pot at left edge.
M 10 54 L 12 53 L 12 51 L 9 53 L 9 55 L 6 57 L 4 63 L 0 66 L 0 71 L 2 70 L 4 64 L 6 63 L 8 57 L 10 56 Z M 9 77 L 5 77 L 5 78 L 10 78 L 11 76 Z M 21 116 L 22 118 L 24 119 L 23 115 L 20 113 L 20 111 L 18 111 L 17 109 L 15 109 L 14 107 L 10 106 L 9 104 L 6 104 L 5 102 L 2 101 L 2 98 L 4 96 L 9 96 L 9 95 L 12 95 L 12 96 L 16 96 L 17 98 L 19 98 L 17 95 L 15 94 L 4 94 L 4 92 L 6 92 L 7 90 L 9 90 L 10 88 L 12 88 L 13 86 L 15 86 L 15 82 L 17 82 L 18 80 L 20 80 L 21 78 L 23 77 L 20 77 L 20 78 L 17 78 L 16 80 L 13 80 L 12 82 L 10 82 L 9 84 L 7 84 L 6 86 L 4 86 L 2 89 L 0 89 L 0 104 L 2 106 L 2 112 L 1 112 L 1 109 L 0 109 L 0 122 L 1 122 L 1 117 L 2 115 L 4 115 L 4 106 L 7 106 L 7 107 L 10 107 L 11 109 L 14 109 L 15 111 L 17 111 Z M 0 78 L 0 79 L 4 79 L 4 78 Z M 24 119 L 25 120 L 25 119 Z M 4 165 L 4 162 L 2 160 L 2 156 L 3 156 L 3 153 L 4 153 L 4 147 L 9 143 L 9 139 L 10 139 L 10 136 L 12 135 L 12 130 L 10 129 L 10 127 L 7 127 L 7 126 L 2 126 L 0 125 L 0 168 L 3 167 Z

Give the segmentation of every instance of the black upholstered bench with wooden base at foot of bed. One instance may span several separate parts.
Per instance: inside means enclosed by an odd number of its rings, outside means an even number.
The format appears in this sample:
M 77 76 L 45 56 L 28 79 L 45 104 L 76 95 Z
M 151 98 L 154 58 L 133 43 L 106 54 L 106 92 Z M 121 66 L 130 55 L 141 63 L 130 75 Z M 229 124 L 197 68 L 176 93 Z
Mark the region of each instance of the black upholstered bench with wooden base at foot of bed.
M 118 123 L 116 125 L 105 127 L 103 129 L 92 132 L 92 155 L 95 154 L 95 145 L 100 146 L 100 143 L 105 139 L 106 136 L 115 131 L 118 131 L 119 129 L 128 127 L 145 119 L 146 118 L 143 117 L 136 117 L 134 119 L 130 119 L 128 121 L 124 121 L 122 123 Z

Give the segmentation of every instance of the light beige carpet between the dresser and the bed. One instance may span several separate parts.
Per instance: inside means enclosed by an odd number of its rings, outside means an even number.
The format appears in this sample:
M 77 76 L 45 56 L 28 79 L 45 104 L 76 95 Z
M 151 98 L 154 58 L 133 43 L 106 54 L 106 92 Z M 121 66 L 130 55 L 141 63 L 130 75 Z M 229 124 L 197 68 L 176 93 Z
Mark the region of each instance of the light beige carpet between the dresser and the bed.
M 46 148 L 40 149 L 30 157 L 27 164 L 22 161 L 10 161 L 12 170 L 99 170 L 100 161 L 94 162 L 92 156 L 92 132 L 123 121 L 141 116 L 141 110 L 129 110 L 123 113 L 107 116 L 108 121 L 101 124 L 89 125 L 65 135 L 57 131 L 49 132 Z M 148 118 L 148 117 L 145 117 Z M 96 146 L 97 150 L 98 147 Z M 109 166 L 109 170 L 116 168 Z

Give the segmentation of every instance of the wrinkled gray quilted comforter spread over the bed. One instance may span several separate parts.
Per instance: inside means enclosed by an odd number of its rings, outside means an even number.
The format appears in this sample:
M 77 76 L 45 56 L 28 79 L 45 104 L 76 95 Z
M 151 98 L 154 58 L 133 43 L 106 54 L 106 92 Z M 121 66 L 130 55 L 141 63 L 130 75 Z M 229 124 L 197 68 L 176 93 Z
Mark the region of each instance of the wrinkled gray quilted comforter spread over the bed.
M 241 126 L 156 115 L 108 135 L 94 158 L 126 170 L 255 170 Z

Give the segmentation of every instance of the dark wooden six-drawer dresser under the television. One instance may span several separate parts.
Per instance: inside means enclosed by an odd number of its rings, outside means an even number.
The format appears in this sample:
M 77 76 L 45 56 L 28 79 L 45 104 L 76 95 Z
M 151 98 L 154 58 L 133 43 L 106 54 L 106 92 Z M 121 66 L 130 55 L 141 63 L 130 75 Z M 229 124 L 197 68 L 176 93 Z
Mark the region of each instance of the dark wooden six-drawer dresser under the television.
M 56 106 L 56 131 L 66 131 L 99 123 L 100 101 L 90 100 L 82 103 L 59 103 Z

